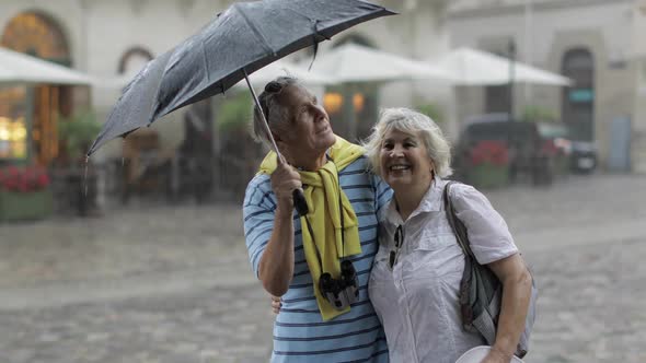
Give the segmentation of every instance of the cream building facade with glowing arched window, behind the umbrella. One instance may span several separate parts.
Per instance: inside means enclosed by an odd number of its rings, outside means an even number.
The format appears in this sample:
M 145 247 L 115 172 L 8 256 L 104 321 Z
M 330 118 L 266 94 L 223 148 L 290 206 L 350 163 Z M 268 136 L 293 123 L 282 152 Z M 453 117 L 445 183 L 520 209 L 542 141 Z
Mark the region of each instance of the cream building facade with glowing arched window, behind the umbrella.
M 0 2 L 0 36 L 3 46 L 59 61 L 100 79 L 131 74 L 141 65 L 161 55 L 197 32 L 231 0 L 5 0 Z M 348 37 L 359 38 L 372 47 L 417 59 L 441 54 L 449 47 L 445 11 L 449 1 L 382 0 L 379 4 L 401 12 L 346 31 L 321 46 L 325 51 L 334 43 Z M 37 26 L 34 24 L 38 24 Z M 41 32 L 41 33 L 38 33 Z M 38 34 L 58 34 L 60 59 L 42 49 L 50 43 Z M 49 42 L 49 43 L 48 43 Z M 305 57 L 305 54 L 295 58 Z M 56 58 L 56 57 L 55 57 Z M 295 59 L 296 60 L 296 59 Z M 66 105 L 59 101 L 46 108 L 92 107 L 104 119 L 117 99 L 119 89 L 111 84 L 90 87 L 51 87 L 66 93 Z M 424 85 L 395 84 L 380 87 L 378 106 L 412 105 L 417 94 L 429 94 Z M 439 92 L 447 94 L 446 91 Z M 437 93 L 437 92 L 436 92 Z M 432 92 L 430 93 L 432 94 Z M 45 107 L 45 106 L 44 106 Z M 170 122 L 157 122 L 162 143 L 170 152 L 184 138 L 183 110 L 169 115 Z M 373 114 L 377 114 L 376 112 Z M 178 121 L 180 120 L 180 121 Z M 53 126 L 55 127 L 55 126 Z M 118 141 L 106 144 L 97 159 L 116 157 L 122 153 Z

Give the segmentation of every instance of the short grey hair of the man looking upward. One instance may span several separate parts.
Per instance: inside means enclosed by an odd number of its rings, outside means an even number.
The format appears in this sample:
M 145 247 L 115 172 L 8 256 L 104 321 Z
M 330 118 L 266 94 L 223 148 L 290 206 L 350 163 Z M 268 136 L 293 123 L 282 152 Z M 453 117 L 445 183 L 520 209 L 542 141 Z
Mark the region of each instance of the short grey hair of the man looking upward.
M 276 131 L 276 127 L 282 126 L 289 121 L 289 108 L 281 105 L 278 99 L 282 90 L 289 85 L 300 84 L 297 78 L 293 77 L 278 77 L 274 81 L 267 83 L 263 93 L 258 96 L 261 108 L 254 105 L 253 108 L 253 132 L 256 141 L 265 143 L 269 149 L 273 149 L 272 140 L 267 134 L 267 129 L 264 125 L 263 115 L 267 118 L 269 128 Z M 262 114 L 261 114 L 262 113 Z

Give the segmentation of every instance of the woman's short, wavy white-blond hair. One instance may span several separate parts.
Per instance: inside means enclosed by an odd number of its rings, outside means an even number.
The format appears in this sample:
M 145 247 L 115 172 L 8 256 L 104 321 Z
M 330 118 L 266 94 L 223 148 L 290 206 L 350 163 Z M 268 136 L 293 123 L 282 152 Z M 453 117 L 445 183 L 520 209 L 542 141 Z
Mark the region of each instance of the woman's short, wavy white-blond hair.
M 430 117 L 408 108 L 383 108 L 379 121 L 372 128 L 372 134 L 364 143 L 372 171 L 380 175 L 380 153 L 385 134 L 396 130 L 418 136 L 432 161 L 436 175 L 447 177 L 453 174 L 451 168 L 451 145 L 442 130 Z

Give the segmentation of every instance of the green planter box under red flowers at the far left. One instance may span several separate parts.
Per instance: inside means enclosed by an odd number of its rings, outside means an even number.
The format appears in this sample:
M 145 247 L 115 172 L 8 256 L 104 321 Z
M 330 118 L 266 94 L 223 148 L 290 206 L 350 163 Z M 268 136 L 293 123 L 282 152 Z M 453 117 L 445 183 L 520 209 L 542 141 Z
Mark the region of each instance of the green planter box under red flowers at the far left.
M 51 214 L 51 190 L 0 190 L 0 221 L 41 220 Z

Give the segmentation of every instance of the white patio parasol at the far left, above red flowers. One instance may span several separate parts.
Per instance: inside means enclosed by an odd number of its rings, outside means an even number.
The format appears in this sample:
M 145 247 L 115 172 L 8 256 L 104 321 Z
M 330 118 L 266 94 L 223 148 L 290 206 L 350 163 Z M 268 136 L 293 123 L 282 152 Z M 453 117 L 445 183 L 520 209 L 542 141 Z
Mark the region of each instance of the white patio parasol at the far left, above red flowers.
M 67 67 L 0 47 L 0 83 L 90 84 L 91 78 Z

